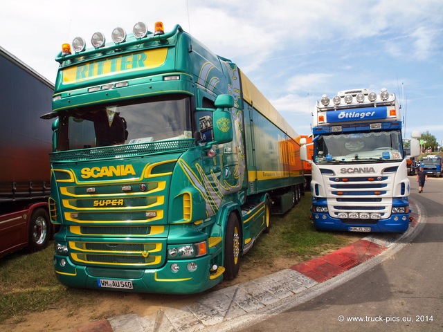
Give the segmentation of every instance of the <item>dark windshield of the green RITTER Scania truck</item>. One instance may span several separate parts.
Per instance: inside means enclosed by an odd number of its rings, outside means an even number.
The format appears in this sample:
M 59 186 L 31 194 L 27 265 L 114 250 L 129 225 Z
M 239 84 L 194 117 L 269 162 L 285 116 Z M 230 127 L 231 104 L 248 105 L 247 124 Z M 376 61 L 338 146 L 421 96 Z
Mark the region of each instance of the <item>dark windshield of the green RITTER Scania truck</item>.
M 60 114 L 57 150 L 192 138 L 190 98 L 100 104 Z

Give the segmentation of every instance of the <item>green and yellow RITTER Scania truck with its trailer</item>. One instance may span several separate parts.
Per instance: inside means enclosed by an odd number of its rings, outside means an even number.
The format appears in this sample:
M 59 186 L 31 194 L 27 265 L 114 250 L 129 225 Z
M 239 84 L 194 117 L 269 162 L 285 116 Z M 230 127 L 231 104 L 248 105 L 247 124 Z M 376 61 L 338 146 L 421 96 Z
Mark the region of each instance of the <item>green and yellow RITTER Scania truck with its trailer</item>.
M 64 44 L 51 221 L 67 286 L 198 293 L 233 279 L 304 183 L 298 134 L 230 60 L 175 26 Z M 72 48 L 71 48 L 72 46 Z

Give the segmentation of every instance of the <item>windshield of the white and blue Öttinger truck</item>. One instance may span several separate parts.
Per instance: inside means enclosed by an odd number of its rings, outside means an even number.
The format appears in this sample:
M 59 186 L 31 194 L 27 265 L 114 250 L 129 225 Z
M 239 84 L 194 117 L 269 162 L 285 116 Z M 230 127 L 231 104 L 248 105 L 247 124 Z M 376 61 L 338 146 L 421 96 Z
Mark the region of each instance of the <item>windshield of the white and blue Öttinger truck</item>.
M 341 133 L 320 136 L 316 142 L 316 163 L 355 163 L 368 160 L 402 160 L 400 131 Z

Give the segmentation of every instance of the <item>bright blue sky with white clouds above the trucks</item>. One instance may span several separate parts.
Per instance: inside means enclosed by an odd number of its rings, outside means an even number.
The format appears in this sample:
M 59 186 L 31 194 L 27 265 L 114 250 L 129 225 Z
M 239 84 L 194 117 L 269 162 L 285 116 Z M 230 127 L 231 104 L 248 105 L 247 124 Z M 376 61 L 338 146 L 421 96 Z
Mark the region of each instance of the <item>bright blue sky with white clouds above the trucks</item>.
M 442 0 L 21 0 L 1 5 L 0 46 L 55 82 L 55 57 L 77 36 L 90 46 L 96 31 L 111 40 L 138 21 L 179 24 L 235 62 L 300 135 L 323 94 L 388 89 L 404 138 L 428 131 L 442 145 L 442 12 Z

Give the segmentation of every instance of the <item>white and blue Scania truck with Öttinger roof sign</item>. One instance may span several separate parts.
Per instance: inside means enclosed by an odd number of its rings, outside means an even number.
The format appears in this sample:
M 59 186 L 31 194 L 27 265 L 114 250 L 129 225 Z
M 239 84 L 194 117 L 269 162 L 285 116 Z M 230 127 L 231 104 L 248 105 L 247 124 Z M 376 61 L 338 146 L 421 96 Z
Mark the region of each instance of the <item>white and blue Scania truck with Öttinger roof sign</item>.
M 386 89 L 340 91 L 316 104 L 311 160 L 312 217 L 317 230 L 404 232 L 410 183 L 400 107 Z M 419 154 L 418 133 L 410 142 Z M 309 160 L 306 145 L 300 151 Z

